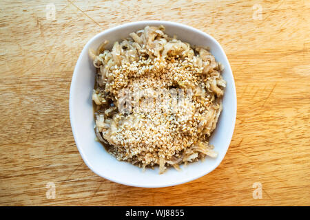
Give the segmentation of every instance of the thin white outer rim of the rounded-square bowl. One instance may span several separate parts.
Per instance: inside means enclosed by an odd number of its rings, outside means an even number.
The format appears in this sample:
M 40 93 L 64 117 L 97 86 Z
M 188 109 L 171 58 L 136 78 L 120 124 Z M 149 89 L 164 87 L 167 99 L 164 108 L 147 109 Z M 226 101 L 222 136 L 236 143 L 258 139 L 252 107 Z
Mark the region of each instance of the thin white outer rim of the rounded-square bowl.
M 229 68 L 229 74 L 231 74 L 231 78 L 232 78 L 232 83 L 231 83 L 231 89 L 234 93 L 234 111 L 232 112 L 232 115 L 233 115 L 233 123 L 232 123 L 232 129 L 231 129 L 231 133 L 229 135 L 227 135 L 227 141 L 229 144 L 226 146 L 225 148 L 225 153 L 223 154 L 222 157 L 220 157 L 220 159 L 218 159 L 218 162 L 214 165 L 214 167 L 212 167 L 210 170 L 207 170 L 206 172 L 203 172 L 203 173 L 199 173 L 198 175 L 193 175 L 193 176 L 189 176 L 188 178 L 185 178 L 185 179 L 182 179 L 182 180 L 179 180 L 179 181 L 174 181 L 172 184 L 149 184 L 147 186 L 143 185 L 143 184 L 131 184 L 131 183 L 128 183 L 126 181 L 120 181 L 119 179 L 114 179 L 114 177 L 111 177 L 111 176 L 106 176 L 106 175 L 103 175 L 102 173 L 97 173 L 96 172 L 96 169 L 92 167 L 92 165 L 90 164 L 90 162 L 88 162 L 87 160 L 87 157 L 85 156 L 85 154 L 83 153 L 83 149 L 81 148 L 81 146 L 79 146 L 79 137 L 77 137 L 76 135 L 76 122 L 74 121 L 74 118 L 73 118 L 73 94 L 74 94 L 74 88 L 75 88 L 75 85 L 76 85 L 76 72 L 78 70 L 78 67 L 79 67 L 79 63 L 81 63 L 81 60 L 82 60 L 82 54 L 85 53 L 85 50 L 87 50 L 87 48 L 90 46 L 90 44 L 95 41 L 96 39 L 98 38 L 101 38 L 101 36 L 107 34 L 107 33 L 110 33 L 110 32 L 114 32 L 116 30 L 119 30 L 119 29 L 122 29 L 122 28 L 127 28 L 127 27 L 130 27 L 130 26 L 135 26 L 135 25 L 141 25 L 141 24 L 145 24 L 145 25 L 166 25 L 166 24 L 169 24 L 169 25 L 174 25 L 178 28 L 186 28 L 187 30 L 189 30 L 190 32 L 198 32 L 199 34 L 202 34 L 203 36 L 205 36 L 207 39 L 211 39 L 211 41 L 214 41 L 214 43 L 216 43 L 216 45 L 220 48 L 220 53 L 223 54 L 223 56 L 226 58 L 227 60 L 227 63 L 228 63 L 228 67 L 225 67 L 225 68 Z M 73 72 L 73 75 L 72 75 L 72 80 L 71 80 L 71 85 L 70 85 L 70 97 L 69 97 L 69 113 L 70 113 L 70 124 L 71 124 L 71 128 L 72 128 L 72 134 L 73 134 L 73 137 L 74 137 L 74 142 L 76 144 L 76 147 L 78 148 L 79 150 L 79 153 L 83 159 L 83 161 L 85 162 L 85 164 L 88 166 L 88 168 L 90 168 L 90 170 L 92 170 L 93 173 L 95 173 L 96 175 L 99 175 L 100 177 L 103 177 L 105 179 L 108 179 L 110 181 L 114 181 L 118 184 L 123 184 L 125 186 L 134 186 L 134 187 L 141 187 L 141 188 L 163 188 L 163 187 L 168 187 L 168 186 L 176 186 L 176 185 L 179 185 L 179 184 L 185 184 L 189 181 L 193 181 L 195 179 L 199 179 L 200 177 L 203 177 L 205 175 L 207 175 L 208 173 L 211 173 L 215 168 L 217 168 L 220 163 L 223 161 L 227 151 L 228 151 L 228 148 L 230 146 L 230 143 L 231 143 L 231 139 L 234 135 L 234 129 L 235 129 L 235 126 L 236 126 L 236 114 L 237 114 L 237 96 L 236 96 L 236 85 L 235 85 L 235 80 L 234 80 L 234 74 L 232 73 L 232 70 L 231 70 L 231 66 L 230 66 L 230 63 L 228 61 L 228 58 L 225 54 L 225 51 L 223 50 L 223 47 L 220 45 L 220 43 L 218 43 L 218 41 L 216 41 L 216 39 L 214 39 L 214 37 L 210 36 L 209 34 L 203 32 L 203 31 L 200 31 L 198 30 L 197 28 L 193 28 L 189 25 L 185 25 L 183 23 L 177 23 L 177 22 L 174 22 L 174 21 L 163 21 L 163 20 L 145 20 L 145 21 L 135 21 L 135 22 L 130 22 L 130 23 L 123 23 L 121 25 L 116 25 L 115 27 L 113 28 L 108 28 L 107 30 L 104 30 L 103 32 L 100 32 L 99 34 L 96 34 L 95 36 L 93 36 L 89 41 L 87 41 L 87 43 L 84 45 L 83 47 L 83 50 L 81 51 L 81 53 L 79 54 L 79 58 L 78 60 L 76 61 L 76 65 L 74 67 L 74 72 Z

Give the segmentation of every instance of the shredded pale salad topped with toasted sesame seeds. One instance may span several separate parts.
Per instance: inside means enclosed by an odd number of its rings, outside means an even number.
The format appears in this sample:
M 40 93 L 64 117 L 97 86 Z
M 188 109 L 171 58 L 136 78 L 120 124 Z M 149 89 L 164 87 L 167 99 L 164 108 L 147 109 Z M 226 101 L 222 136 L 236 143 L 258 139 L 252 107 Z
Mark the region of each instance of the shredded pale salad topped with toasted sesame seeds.
M 90 56 L 96 137 L 116 159 L 180 169 L 216 157 L 209 137 L 223 109 L 224 67 L 207 48 L 167 36 L 163 26 L 133 32 Z

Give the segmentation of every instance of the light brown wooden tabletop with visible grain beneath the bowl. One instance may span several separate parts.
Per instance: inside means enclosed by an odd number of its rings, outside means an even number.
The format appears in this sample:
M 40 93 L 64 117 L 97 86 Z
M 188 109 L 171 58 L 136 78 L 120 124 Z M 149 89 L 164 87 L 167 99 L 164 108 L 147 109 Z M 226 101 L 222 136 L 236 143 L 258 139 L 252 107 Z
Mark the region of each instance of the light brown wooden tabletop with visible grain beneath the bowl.
M 54 21 L 46 17 L 49 3 Z M 310 1 L 1 1 L 0 205 L 309 206 L 309 14 Z M 85 43 L 107 28 L 146 19 L 214 36 L 238 94 L 236 129 L 222 164 L 169 188 L 98 177 L 81 159 L 70 128 L 70 82 Z M 45 195 L 48 182 L 56 186 L 55 199 Z M 252 196 L 256 182 L 262 199 Z

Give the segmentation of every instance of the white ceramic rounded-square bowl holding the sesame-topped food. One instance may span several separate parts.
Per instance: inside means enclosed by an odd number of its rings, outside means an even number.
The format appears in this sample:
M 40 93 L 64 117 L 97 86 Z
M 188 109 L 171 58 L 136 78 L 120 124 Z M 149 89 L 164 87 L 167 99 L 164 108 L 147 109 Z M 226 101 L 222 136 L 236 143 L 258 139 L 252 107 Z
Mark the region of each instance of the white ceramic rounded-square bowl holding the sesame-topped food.
M 119 162 L 115 157 L 107 153 L 101 143 L 95 141 L 94 118 L 92 109 L 92 89 L 94 88 L 95 68 L 88 56 L 90 48 L 96 48 L 105 40 L 110 43 L 110 49 L 115 41 L 121 41 L 131 32 L 145 28 L 146 25 L 164 25 L 165 32 L 170 36 L 174 34 L 178 39 L 192 45 L 209 46 L 216 60 L 223 63 L 225 70 L 223 77 L 227 82 L 223 98 L 223 111 L 220 114 L 216 130 L 211 136 L 210 142 L 214 144 L 218 157 L 207 157 L 204 162 L 194 162 L 187 166 L 181 166 L 182 170 L 168 168 L 161 175 L 158 168 L 138 168 L 127 162 Z M 94 36 L 83 48 L 79 60 L 76 63 L 70 88 L 70 120 L 76 146 L 87 166 L 97 175 L 110 179 L 119 184 L 138 187 L 165 187 L 183 184 L 192 181 L 214 170 L 223 160 L 234 133 L 236 122 L 236 88 L 231 67 L 220 44 L 208 34 L 195 28 L 180 23 L 169 21 L 139 21 L 126 23 L 115 28 L 105 30 Z

